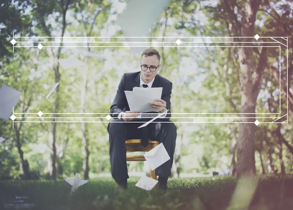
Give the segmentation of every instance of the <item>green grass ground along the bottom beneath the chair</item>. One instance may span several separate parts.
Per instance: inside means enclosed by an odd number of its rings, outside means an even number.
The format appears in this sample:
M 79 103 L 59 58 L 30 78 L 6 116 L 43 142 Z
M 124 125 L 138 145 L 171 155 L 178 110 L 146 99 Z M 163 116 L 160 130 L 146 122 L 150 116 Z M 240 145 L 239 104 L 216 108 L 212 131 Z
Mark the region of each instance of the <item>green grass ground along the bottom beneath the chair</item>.
M 232 203 L 237 181 L 231 177 L 169 179 L 167 193 L 144 191 L 137 181 L 128 179 L 128 191 L 115 195 L 114 181 L 90 180 L 72 196 L 63 181 L 0 181 L 0 209 L 15 196 L 28 196 L 35 210 L 293 210 L 292 175 L 244 180 Z

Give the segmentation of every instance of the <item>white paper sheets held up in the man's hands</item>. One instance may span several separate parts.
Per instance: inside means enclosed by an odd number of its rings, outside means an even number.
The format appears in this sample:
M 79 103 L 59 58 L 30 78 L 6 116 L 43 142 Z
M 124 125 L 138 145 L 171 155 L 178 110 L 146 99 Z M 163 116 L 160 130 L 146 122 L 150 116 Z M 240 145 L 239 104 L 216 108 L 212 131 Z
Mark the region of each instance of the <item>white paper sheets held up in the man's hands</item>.
M 150 103 L 155 99 L 161 98 L 163 88 L 133 88 L 133 91 L 125 91 L 126 99 L 131 111 L 144 112 L 158 112 L 156 109 L 150 107 Z M 130 93 L 132 92 L 132 93 Z

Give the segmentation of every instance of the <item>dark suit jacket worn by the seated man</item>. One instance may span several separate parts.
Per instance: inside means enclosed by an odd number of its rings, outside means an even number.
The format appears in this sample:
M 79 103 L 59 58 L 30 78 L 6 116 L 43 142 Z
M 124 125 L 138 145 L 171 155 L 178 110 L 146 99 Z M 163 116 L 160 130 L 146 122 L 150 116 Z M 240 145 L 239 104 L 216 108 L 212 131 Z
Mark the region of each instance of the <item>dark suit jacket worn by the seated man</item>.
M 140 72 L 134 73 L 124 73 L 122 79 L 118 85 L 118 90 L 114 101 L 110 107 L 111 116 L 118 117 L 119 113 L 130 111 L 129 105 L 127 103 L 126 95 L 124 91 L 132 91 L 133 87 L 140 86 Z M 161 99 L 166 101 L 166 108 L 169 110 L 165 118 L 160 118 L 160 121 L 167 121 L 171 117 L 171 93 L 172 93 L 172 82 L 166 78 L 156 75 L 154 82 L 151 86 L 152 88 L 163 87 Z M 113 114 L 115 113 L 115 114 Z M 149 113 L 158 113 L 158 112 L 149 112 Z M 145 119 L 144 119 L 145 120 Z M 158 121 L 156 119 L 156 121 Z

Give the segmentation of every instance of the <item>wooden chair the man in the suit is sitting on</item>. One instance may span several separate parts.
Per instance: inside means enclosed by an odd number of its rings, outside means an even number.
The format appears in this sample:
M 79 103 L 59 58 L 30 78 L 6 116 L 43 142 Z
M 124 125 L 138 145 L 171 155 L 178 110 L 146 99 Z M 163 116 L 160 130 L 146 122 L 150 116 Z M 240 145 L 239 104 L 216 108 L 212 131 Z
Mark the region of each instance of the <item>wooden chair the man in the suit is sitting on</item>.
M 148 140 L 148 145 L 144 147 L 141 144 L 141 139 L 129 139 L 125 141 L 126 146 L 126 153 L 131 152 L 148 152 L 151 149 L 154 149 L 155 146 L 159 144 L 159 141 L 152 141 Z M 144 155 L 132 155 L 132 156 L 126 156 L 126 161 L 145 161 L 146 158 Z M 150 178 L 158 180 L 158 177 L 155 175 L 155 171 L 150 170 Z M 118 184 L 116 183 L 116 188 L 118 187 Z

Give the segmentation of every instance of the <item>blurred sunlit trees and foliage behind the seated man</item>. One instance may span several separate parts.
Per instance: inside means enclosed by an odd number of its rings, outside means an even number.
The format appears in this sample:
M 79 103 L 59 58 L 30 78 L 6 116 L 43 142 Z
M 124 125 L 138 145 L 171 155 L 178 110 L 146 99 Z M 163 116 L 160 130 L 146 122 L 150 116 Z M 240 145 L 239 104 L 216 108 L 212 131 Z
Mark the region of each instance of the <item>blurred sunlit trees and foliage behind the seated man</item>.
M 149 35 L 288 37 L 288 53 L 292 55 L 293 3 L 287 0 L 250 2 L 171 0 Z M 1 3 L 0 85 L 22 92 L 15 112 L 108 113 L 122 74 L 140 71 L 140 55 L 133 56 L 129 49 L 115 47 L 48 47 L 41 51 L 15 48 L 13 53 L 10 40 L 13 32 L 18 37 L 122 37 L 117 18 L 126 3 L 124 0 Z M 290 116 L 286 124 L 255 127 L 242 123 L 175 123 L 178 136 L 172 168 L 174 177 L 200 176 L 228 169 L 231 175 L 292 172 L 293 57 L 289 56 L 288 60 L 288 83 L 287 77 L 281 75 L 280 90 L 280 72 L 273 64 L 278 62 L 279 51 L 265 49 L 158 48 L 162 57 L 159 74 L 173 82 L 173 113 L 243 113 L 247 110 L 255 110 L 256 116 L 257 113 L 275 113 L 280 108 L 280 91 L 281 106 L 286 108 L 288 88 Z M 85 67 L 63 69 L 58 59 L 71 55 L 85 62 Z M 246 71 L 241 63 L 243 57 L 249 57 L 251 63 L 247 65 L 257 74 Z M 281 68 L 286 70 L 287 58 L 282 56 L 281 60 Z M 246 81 L 245 76 L 253 77 L 254 86 L 249 85 L 250 80 Z M 56 91 L 45 100 L 56 82 L 59 82 Z M 251 99 L 247 98 L 249 92 L 254 93 Z M 255 106 L 246 107 L 244 96 L 254 101 Z M 105 119 L 100 120 L 105 123 L 15 123 L 12 129 L 10 120 L 0 119 L 0 136 L 6 138 L 0 143 L 0 178 L 57 179 L 75 172 L 82 173 L 84 179 L 109 175 L 107 123 Z M 128 163 L 128 169 L 142 172 L 143 165 Z

